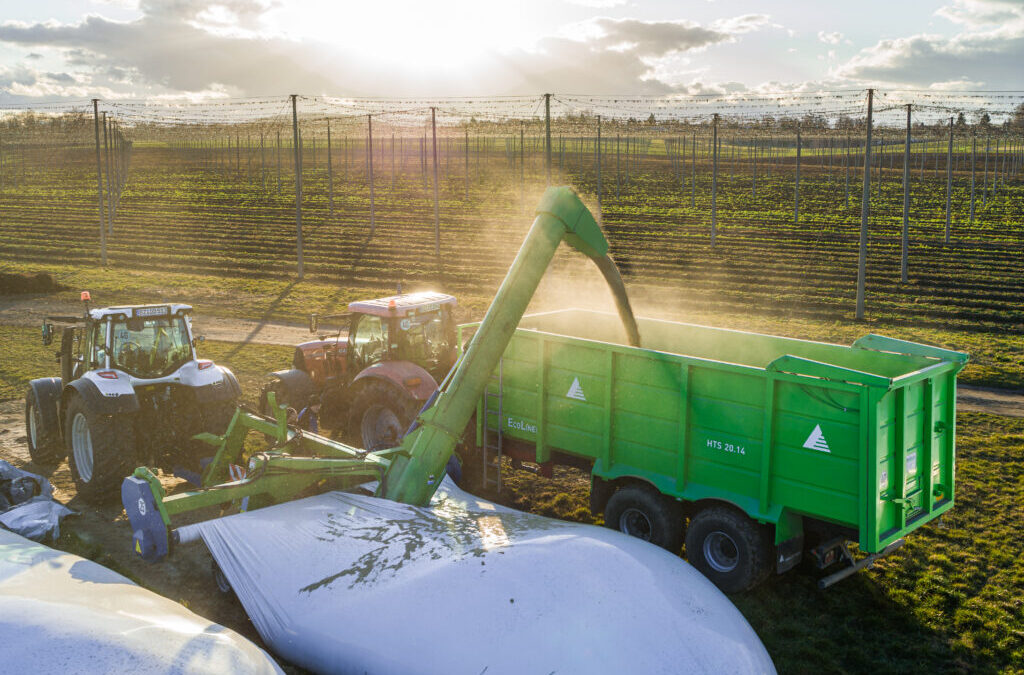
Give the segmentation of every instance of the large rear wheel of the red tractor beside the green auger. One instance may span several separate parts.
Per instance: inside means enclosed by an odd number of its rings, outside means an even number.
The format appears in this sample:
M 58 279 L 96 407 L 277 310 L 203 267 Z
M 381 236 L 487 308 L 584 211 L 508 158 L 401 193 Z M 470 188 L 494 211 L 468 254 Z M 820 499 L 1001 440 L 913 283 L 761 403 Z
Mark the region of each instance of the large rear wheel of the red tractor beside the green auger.
M 394 448 L 421 407 L 421 402 L 393 384 L 372 380 L 352 400 L 348 440 L 370 452 Z

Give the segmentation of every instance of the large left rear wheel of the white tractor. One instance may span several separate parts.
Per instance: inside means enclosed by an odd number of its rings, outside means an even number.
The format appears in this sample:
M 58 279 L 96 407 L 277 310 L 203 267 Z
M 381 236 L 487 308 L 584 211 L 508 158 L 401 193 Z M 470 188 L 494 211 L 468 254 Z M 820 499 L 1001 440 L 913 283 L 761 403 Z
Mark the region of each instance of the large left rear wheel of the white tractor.
M 65 440 L 68 464 L 78 494 L 100 504 L 121 496 L 121 481 L 131 473 L 133 421 L 127 415 L 97 415 L 81 396 L 68 405 Z

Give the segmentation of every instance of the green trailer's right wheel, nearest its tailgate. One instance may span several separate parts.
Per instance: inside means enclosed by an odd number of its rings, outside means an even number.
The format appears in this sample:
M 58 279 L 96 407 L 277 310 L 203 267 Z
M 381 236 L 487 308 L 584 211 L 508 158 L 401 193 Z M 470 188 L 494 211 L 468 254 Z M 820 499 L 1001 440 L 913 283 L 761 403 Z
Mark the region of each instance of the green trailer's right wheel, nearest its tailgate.
M 769 528 L 728 506 L 709 506 L 690 518 L 686 559 L 726 593 L 750 590 L 771 573 Z

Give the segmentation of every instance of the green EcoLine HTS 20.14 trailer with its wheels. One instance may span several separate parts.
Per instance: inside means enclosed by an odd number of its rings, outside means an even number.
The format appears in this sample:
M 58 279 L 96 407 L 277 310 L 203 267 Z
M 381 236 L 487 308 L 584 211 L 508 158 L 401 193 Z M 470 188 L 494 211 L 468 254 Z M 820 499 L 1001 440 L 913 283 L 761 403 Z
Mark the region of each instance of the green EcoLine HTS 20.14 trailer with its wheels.
M 642 348 L 613 314 L 523 318 L 477 409 L 484 475 L 496 455 L 542 473 L 587 468 L 608 526 L 673 551 L 685 537 L 726 591 L 805 554 L 845 562 L 827 586 L 952 507 L 967 354 L 877 335 L 842 346 L 639 326 Z

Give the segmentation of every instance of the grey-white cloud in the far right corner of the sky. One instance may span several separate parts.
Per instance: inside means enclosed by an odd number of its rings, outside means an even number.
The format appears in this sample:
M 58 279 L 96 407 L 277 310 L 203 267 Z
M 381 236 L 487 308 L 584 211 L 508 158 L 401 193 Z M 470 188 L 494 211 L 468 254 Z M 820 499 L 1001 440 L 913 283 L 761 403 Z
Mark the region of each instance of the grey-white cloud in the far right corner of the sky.
M 920 34 L 882 40 L 838 67 L 834 75 L 913 86 L 985 81 L 1021 86 L 1024 2 L 957 0 L 938 13 L 952 17 L 964 30 L 952 37 Z

